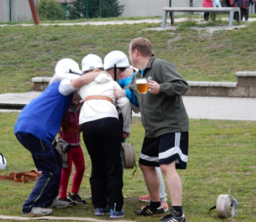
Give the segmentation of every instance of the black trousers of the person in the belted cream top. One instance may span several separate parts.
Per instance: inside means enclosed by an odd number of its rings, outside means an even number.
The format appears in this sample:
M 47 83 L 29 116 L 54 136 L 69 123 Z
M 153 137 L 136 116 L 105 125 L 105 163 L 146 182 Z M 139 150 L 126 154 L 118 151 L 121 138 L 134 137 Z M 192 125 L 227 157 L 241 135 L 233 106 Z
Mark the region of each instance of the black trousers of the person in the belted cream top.
M 82 124 L 84 143 L 91 157 L 91 196 L 95 208 L 122 210 L 120 126 L 116 118 Z

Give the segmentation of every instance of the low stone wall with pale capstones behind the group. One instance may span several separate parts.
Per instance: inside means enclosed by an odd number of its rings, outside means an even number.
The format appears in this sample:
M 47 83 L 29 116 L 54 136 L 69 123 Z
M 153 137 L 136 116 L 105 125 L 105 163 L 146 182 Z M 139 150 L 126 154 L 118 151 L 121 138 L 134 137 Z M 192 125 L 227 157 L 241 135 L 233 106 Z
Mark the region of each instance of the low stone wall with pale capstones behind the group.
M 188 81 L 190 89 L 184 96 L 221 96 L 256 98 L 256 71 L 238 71 L 237 83 Z M 44 91 L 49 77 L 32 78 L 33 90 Z

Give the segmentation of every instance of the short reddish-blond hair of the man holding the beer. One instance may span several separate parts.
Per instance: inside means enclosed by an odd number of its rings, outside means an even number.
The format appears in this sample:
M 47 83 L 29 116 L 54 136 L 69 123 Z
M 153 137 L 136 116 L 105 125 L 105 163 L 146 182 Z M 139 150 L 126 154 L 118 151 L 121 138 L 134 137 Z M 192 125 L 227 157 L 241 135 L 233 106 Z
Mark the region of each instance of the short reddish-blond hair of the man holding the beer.
M 137 49 L 138 52 L 144 57 L 152 56 L 151 42 L 145 37 L 136 37 L 135 39 L 131 40 L 130 49 L 132 52 L 134 52 L 134 49 Z

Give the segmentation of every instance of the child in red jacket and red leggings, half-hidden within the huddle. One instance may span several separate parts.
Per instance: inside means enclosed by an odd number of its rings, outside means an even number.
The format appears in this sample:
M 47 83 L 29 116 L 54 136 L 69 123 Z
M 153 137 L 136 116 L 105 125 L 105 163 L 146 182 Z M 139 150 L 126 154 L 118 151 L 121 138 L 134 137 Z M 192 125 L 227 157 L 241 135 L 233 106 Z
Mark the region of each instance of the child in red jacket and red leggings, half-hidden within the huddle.
M 59 132 L 59 139 L 61 138 L 64 142 L 71 144 L 72 147 L 71 150 L 68 151 L 68 168 L 62 168 L 60 200 L 75 203 L 86 203 L 86 201 L 82 200 L 78 194 L 85 170 L 84 153 L 80 146 L 81 126 L 78 123 L 81 105 L 79 104 L 78 98 L 79 97 L 75 92 L 73 101 L 68 108 L 68 112 L 66 112 L 66 115 L 62 119 L 62 127 Z M 68 180 L 71 176 L 72 162 L 75 165 L 75 173 L 73 176 L 71 193 L 69 193 L 67 197 Z

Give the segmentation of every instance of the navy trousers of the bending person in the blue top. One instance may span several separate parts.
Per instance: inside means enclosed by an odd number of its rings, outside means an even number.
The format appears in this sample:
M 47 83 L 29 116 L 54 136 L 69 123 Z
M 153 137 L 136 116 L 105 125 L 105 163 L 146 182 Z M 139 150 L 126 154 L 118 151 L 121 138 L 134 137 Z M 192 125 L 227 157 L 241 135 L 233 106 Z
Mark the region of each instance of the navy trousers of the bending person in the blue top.
M 23 204 L 23 212 L 30 212 L 32 207 L 48 207 L 59 194 L 62 157 L 52 144 L 29 133 L 17 133 L 16 137 L 32 154 L 35 167 L 42 171 L 35 187 Z

